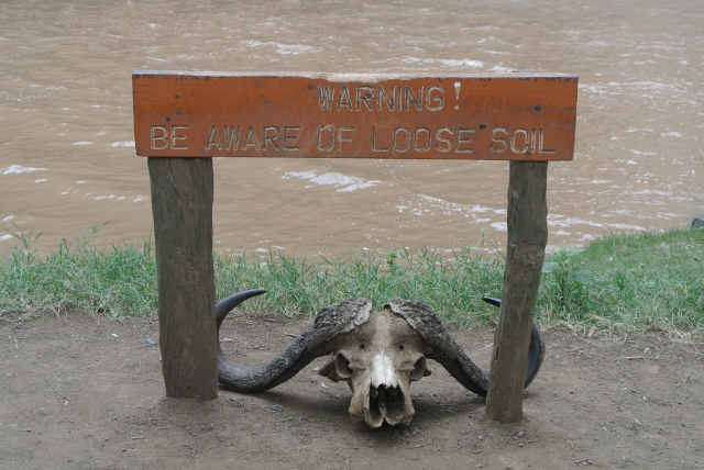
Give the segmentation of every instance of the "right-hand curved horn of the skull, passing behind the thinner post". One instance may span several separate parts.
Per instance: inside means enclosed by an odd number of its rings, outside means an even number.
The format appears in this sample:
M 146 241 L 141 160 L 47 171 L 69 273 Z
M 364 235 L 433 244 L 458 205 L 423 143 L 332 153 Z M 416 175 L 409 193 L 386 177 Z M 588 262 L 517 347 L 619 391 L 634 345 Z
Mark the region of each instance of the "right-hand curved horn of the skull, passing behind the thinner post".
M 501 300 L 496 300 L 501 305 Z M 444 367 L 458 382 L 480 396 L 486 396 L 488 374 L 470 359 L 460 345 L 448 334 L 430 307 L 421 302 L 393 300 L 386 304 L 402 316 L 430 345 L 426 356 Z M 536 326 L 532 326 L 525 387 L 538 373 L 544 347 Z

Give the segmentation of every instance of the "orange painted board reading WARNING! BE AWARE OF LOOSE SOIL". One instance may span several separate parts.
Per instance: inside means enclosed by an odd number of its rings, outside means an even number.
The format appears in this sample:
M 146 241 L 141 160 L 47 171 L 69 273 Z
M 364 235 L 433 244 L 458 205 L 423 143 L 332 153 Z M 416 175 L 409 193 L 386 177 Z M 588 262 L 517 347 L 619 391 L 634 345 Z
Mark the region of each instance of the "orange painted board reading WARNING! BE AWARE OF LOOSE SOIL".
M 571 160 L 569 74 L 135 71 L 148 157 Z

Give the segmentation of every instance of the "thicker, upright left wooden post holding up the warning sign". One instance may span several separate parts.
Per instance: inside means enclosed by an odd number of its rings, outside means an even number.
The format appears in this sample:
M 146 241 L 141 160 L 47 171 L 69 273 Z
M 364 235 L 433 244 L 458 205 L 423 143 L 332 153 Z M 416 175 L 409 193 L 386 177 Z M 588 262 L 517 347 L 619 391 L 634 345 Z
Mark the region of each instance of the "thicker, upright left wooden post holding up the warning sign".
M 166 396 L 216 399 L 212 158 L 150 157 L 147 165 Z

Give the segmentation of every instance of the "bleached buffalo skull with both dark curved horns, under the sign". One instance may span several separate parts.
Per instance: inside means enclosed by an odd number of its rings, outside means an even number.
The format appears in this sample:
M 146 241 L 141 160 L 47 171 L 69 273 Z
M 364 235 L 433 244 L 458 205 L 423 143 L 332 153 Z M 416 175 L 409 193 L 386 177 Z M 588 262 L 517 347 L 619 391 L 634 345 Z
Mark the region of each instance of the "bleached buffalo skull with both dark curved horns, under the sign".
M 231 295 L 216 306 L 218 338 L 228 313 L 246 299 L 264 293 L 251 290 Z M 496 299 L 485 299 L 499 304 Z M 486 396 L 488 376 L 464 354 L 435 313 L 416 301 L 393 300 L 372 310 L 364 299 L 349 299 L 323 309 L 278 357 L 258 367 L 242 367 L 228 359 L 218 340 L 218 378 L 237 392 L 260 392 L 294 377 L 311 360 L 329 355 L 319 373 L 345 380 L 352 390 L 350 416 L 376 428 L 384 422 L 407 424 L 415 411 L 410 382 L 430 376 L 426 360 L 433 359 L 472 392 Z M 544 346 L 532 326 L 525 387 L 538 373 Z

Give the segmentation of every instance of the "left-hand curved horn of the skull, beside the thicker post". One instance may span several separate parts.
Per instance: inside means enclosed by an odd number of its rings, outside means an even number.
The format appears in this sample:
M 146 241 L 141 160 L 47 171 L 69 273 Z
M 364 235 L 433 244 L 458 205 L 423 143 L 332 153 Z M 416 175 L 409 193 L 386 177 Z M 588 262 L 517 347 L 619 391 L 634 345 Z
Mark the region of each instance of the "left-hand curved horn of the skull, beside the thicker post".
M 261 392 L 294 377 L 311 360 L 332 352 L 330 339 L 369 321 L 372 303 L 363 299 L 349 299 L 322 309 L 314 325 L 306 329 L 278 357 L 258 367 L 243 367 L 228 359 L 220 346 L 220 325 L 232 309 L 263 290 L 251 290 L 231 295 L 216 305 L 218 321 L 218 379 L 235 392 Z

